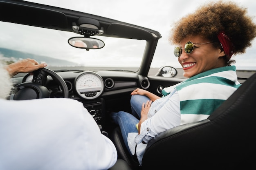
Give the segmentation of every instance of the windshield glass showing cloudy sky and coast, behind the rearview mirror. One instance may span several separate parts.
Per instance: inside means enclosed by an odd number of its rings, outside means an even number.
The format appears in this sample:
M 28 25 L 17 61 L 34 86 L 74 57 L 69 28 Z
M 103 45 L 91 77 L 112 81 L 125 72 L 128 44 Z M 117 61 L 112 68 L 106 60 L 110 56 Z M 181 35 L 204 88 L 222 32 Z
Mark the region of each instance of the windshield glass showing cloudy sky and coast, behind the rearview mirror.
M 82 35 L 67 31 L 0 22 L 0 53 L 10 60 L 34 58 L 49 67 L 85 66 L 138 68 L 145 40 L 94 36 L 105 42 L 102 49 L 79 49 L 68 44 L 71 37 Z M 109 69 L 109 68 L 107 68 Z

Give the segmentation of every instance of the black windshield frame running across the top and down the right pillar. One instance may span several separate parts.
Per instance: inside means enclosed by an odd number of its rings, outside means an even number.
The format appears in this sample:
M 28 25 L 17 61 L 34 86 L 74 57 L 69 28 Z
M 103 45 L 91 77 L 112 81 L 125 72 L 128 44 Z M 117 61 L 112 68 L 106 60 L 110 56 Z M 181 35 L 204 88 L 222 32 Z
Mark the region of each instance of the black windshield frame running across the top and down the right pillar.
M 100 29 L 104 31 L 99 36 L 146 40 L 144 56 L 137 74 L 144 76 L 148 74 L 157 42 L 162 37 L 158 31 L 70 9 L 23 0 L 0 0 L 0 21 L 3 22 L 77 33 L 72 26 L 82 17 L 99 21 Z

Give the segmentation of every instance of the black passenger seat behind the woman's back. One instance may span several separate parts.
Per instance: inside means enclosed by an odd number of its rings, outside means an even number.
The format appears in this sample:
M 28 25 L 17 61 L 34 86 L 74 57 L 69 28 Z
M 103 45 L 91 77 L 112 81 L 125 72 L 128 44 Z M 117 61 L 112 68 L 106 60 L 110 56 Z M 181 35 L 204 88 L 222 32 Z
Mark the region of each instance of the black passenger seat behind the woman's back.
M 208 119 L 166 130 L 145 150 L 140 169 L 256 169 L 256 73 Z M 134 169 L 119 127 L 113 141 L 119 158 Z

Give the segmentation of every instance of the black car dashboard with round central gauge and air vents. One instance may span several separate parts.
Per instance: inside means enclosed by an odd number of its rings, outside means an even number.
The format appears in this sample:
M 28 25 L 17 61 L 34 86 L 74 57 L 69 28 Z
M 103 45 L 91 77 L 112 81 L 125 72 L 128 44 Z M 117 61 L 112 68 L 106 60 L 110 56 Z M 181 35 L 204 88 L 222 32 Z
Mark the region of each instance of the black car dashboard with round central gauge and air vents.
M 147 77 L 120 71 L 57 71 L 67 84 L 69 98 L 83 103 L 98 125 L 104 124 L 107 112 L 130 108 L 130 93 L 135 88 L 148 88 Z M 33 75 L 13 77 L 15 84 L 29 82 Z M 60 92 L 61 86 L 47 76 L 46 87 L 52 93 Z M 53 96 L 51 97 L 59 97 Z M 127 109 L 126 109 L 127 108 Z

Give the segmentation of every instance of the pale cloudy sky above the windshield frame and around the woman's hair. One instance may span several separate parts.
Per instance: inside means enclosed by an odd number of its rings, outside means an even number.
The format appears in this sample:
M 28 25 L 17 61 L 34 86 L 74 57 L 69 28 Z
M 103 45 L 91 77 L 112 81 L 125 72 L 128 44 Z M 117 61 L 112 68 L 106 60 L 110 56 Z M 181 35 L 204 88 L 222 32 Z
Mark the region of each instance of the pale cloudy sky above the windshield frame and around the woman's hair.
M 210 0 L 28 0 L 52 6 L 73 9 L 94 15 L 104 16 L 114 20 L 127 22 L 153 29 L 161 33 L 153 63 L 164 62 L 168 58 L 173 66 L 180 66 L 177 58 L 173 57 L 174 46 L 168 41 L 170 29 L 173 22 L 183 16 L 192 13 L 204 3 Z M 225 0 L 224 0 L 225 1 Z M 256 23 L 256 1 L 254 0 L 232 0 L 242 7 L 246 7 L 248 15 L 254 17 Z M 72 2 L 72 3 L 70 3 Z M 256 40 L 254 40 L 256 42 Z M 255 43 L 252 44 L 255 44 Z M 250 47 L 242 55 L 233 55 L 236 65 L 254 66 L 256 63 L 256 47 Z M 154 61 L 155 60 L 155 61 Z M 252 62 L 252 60 L 254 60 Z M 252 64 L 252 65 L 250 65 Z M 168 65 L 168 64 L 167 64 Z

